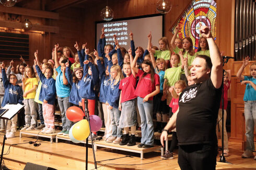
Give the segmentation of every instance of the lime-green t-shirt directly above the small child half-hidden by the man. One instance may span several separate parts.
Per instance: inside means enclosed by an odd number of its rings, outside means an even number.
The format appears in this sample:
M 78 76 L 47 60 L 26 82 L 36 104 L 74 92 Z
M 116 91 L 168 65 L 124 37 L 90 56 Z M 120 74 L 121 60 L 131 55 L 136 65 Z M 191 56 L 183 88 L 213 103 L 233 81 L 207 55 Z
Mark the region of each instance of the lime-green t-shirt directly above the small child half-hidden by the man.
M 180 80 L 181 66 L 172 67 L 165 71 L 164 79 L 167 79 L 167 86 L 174 86 L 174 84 Z

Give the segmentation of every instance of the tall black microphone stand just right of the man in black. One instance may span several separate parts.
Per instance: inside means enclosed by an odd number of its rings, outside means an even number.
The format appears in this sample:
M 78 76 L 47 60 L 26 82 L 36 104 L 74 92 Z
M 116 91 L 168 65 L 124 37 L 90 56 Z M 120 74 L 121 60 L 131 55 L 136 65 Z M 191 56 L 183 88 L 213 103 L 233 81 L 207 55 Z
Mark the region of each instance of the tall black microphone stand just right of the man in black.
M 224 58 L 225 56 L 223 56 L 223 66 L 225 63 L 228 62 L 229 58 Z M 223 162 L 223 163 L 229 163 L 232 164 L 230 162 L 227 162 L 224 156 L 224 75 L 226 75 L 226 71 L 223 69 L 223 76 L 222 76 L 222 155 L 220 156 L 220 160 L 219 162 Z

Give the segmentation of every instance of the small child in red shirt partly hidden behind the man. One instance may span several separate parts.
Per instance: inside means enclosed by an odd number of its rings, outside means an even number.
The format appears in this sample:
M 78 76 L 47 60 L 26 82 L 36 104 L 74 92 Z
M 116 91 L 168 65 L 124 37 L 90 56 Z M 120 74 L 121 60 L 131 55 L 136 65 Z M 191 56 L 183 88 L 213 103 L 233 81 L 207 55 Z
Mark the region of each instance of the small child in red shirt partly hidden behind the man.
M 178 80 L 174 87 L 169 88 L 169 91 L 172 95 L 172 99 L 169 107 L 172 108 L 172 112 L 175 113 L 179 108 L 179 96 L 181 92 L 187 87 L 187 84 L 183 80 Z M 178 138 L 176 134 L 176 129 L 172 130 L 172 139 L 169 150 L 166 150 L 166 153 L 161 156 L 162 159 L 173 159 L 173 150 L 178 144 Z

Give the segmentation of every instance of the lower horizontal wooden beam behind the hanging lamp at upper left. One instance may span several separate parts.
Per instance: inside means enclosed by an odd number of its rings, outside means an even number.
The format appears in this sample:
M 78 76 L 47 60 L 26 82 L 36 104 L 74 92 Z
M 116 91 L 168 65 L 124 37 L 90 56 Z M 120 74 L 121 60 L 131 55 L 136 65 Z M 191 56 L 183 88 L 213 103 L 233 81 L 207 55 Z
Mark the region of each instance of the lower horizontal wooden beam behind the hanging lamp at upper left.
M 0 21 L 0 27 L 11 28 L 11 29 L 22 29 L 20 22 L 12 22 L 12 21 Z M 32 29 L 30 31 L 44 31 L 51 33 L 59 33 L 60 28 L 49 26 L 49 25 L 32 25 Z

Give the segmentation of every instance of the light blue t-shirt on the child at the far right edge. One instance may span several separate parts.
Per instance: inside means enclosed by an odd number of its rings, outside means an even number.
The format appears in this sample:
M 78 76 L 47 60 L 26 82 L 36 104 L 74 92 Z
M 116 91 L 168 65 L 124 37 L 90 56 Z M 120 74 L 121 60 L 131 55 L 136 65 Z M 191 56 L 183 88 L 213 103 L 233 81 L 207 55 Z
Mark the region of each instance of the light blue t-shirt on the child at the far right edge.
M 244 81 L 252 81 L 256 84 L 256 79 L 251 76 L 245 76 Z M 245 96 L 243 96 L 243 101 L 256 101 L 256 90 L 251 86 L 250 83 L 246 85 Z

